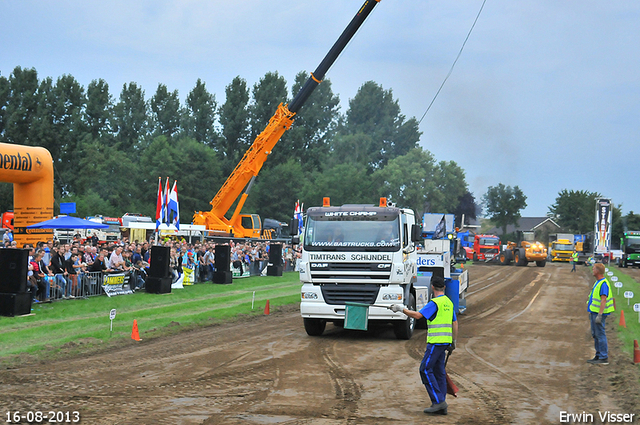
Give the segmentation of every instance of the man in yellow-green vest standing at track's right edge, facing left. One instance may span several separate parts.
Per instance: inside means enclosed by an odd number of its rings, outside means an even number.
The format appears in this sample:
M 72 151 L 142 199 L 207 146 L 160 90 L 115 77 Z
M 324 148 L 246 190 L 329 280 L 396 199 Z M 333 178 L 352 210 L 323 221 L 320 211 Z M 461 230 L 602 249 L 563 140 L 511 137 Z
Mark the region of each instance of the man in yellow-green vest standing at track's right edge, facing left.
M 609 364 L 605 320 L 609 314 L 613 313 L 614 307 L 611 285 L 604 277 L 604 264 L 596 263 L 593 265 L 593 277 L 596 278 L 596 283 L 589 293 L 587 310 L 589 311 L 591 336 L 593 336 L 596 355 L 591 360 L 587 360 L 587 363 Z

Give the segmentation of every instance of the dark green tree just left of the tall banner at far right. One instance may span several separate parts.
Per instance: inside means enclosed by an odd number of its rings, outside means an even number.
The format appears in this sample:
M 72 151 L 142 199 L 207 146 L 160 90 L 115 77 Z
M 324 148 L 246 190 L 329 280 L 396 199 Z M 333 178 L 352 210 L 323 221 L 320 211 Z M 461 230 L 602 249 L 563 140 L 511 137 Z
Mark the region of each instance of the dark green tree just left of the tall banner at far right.
M 597 192 L 567 190 L 558 192 L 556 202 L 549 207 L 549 213 L 558 225 L 567 232 L 587 233 L 593 231 Z

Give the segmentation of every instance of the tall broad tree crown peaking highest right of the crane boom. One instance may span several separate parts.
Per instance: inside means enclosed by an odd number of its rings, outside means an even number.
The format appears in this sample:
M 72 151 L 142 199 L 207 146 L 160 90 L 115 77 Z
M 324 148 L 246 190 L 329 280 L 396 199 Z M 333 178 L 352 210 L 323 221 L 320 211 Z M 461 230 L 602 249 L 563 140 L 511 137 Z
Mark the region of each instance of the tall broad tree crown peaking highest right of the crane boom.
M 391 89 L 384 90 L 373 81 L 364 83 L 353 99 L 343 132 L 369 136 L 365 148 L 367 163 L 372 170 L 381 169 L 395 157 L 405 155 L 420 140 L 418 121 L 406 120 Z

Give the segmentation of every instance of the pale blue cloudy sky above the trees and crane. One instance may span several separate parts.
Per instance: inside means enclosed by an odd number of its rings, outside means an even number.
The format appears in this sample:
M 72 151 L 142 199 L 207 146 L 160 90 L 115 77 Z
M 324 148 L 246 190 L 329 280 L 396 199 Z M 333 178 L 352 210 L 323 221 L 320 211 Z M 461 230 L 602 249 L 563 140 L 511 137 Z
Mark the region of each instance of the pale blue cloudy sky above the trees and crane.
M 224 103 L 234 77 L 277 71 L 289 90 L 313 71 L 363 0 L 0 0 L 0 74 L 136 82 L 180 98 L 198 78 Z M 341 112 L 366 81 L 423 116 L 483 0 L 382 0 L 327 73 Z M 640 213 L 640 2 L 486 0 L 453 72 L 420 124 L 420 146 L 465 170 L 481 201 L 518 186 L 522 216 L 567 190 Z M 277 145 L 276 145 L 277 149 Z M 594 205 L 595 209 L 595 205 Z

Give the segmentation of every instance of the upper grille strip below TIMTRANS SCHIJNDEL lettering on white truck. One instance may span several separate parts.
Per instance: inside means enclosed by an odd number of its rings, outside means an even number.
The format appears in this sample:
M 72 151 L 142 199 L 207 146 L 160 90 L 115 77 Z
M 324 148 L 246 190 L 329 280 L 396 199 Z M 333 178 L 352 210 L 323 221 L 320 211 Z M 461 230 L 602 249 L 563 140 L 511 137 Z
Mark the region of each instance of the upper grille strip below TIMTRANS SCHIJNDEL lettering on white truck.
M 311 263 L 313 283 L 389 280 L 391 263 Z

